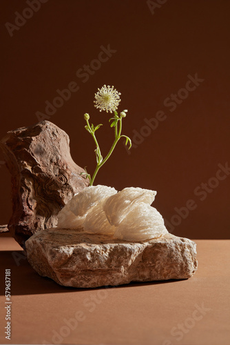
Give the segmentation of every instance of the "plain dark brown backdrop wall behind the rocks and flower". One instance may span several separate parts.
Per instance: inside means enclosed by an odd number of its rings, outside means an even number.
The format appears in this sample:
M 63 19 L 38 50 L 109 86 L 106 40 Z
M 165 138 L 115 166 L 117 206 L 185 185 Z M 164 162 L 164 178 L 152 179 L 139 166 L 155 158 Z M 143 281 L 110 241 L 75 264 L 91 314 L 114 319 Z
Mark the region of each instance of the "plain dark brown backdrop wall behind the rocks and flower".
M 94 144 L 84 129 L 83 114 L 89 112 L 94 124 L 104 124 L 97 133 L 105 155 L 112 130 L 109 116 L 94 108 L 94 92 L 103 84 L 114 85 L 122 94 L 119 109 L 129 110 L 124 134 L 133 138 L 133 131 L 140 132 L 144 119 L 155 117 L 158 110 L 167 119 L 130 155 L 119 143 L 96 184 L 157 190 L 154 206 L 170 222 L 175 208 L 193 199 L 196 209 L 169 230 L 196 239 L 229 238 L 230 176 L 203 201 L 194 190 L 216 176 L 218 164 L 230 165 L 230 3 L 174 0 L 158 6 L 152 14 L 146 1 L 49 0 L 10 37 L 5 23 L 14 23 L 14 12 L 21 14 L 28 5 L 1 1 L 0 137 L 36 123 L 36 112 L 45 112 L 45 101 L 52 102 L 57 89 L 76 81 L 79 90 L 50 121 L 70 135 L 74 161 L 93 172 Z M 108 45 L 116 52 L 84 83 L 76 71 L 90 65 L 100 47 Z M 187 75 L 196 73 L 204 81 L 170 112 L 165 99 L 185 87 Z M 11 205 L 4 164 L 0 176 L 0 224 L 6 224 Z

